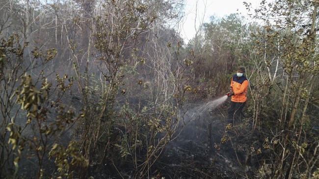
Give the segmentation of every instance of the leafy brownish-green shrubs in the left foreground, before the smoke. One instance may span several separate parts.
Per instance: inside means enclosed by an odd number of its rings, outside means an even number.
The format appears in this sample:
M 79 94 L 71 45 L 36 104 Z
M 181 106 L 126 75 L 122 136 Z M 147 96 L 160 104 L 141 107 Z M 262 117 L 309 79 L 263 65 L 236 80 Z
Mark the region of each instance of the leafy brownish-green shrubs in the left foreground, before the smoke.
M 25 168 L 26 161 L 32 158 L 37 165 L 32 165 L 35 170 L 32 170 L 30 175 L 43 178 L 48 176 L 48 171 L 44 168 L 49 157 L 50 143 L 59 141 L 59 137 L 76 119 L 73 111 L 58 104 L 58 100 L 52 99 L 53 94 L 50 91 L 63 93 L 70 90 L 72 81 L 67 75 L 61 79 L 57 74 L 58 88 L 55 89 L 45 77 L 47 74 L 44 72 L 44 66 L 55 58 L 56 49 L 42 52 L 35 47 L 32 51 L 33 57 L 30 58 L 32 61 L 29 63 L 25 59 L 28 43 L 20 45 L 19 35 L 13 34 L 8 39 L 2 37 L 0 42 L 0 177 L 19 178 L 21 165 Z M 70 84 L 65 85 L 64 81 L 67 79 Z M 52 110 L 53 106 L 56 111 Z M 52 113 L 54 115 L 51 115 Z M 79 148 L 72 144 L 66 151 L 72 156 L 74 151 L 78 150 Z M 82 155 L 72 157 L 76 158 L 74 164 L 87 166 Z M 69 169 L 68 172 L 72 173 L 74 170 L 76 168 Z

